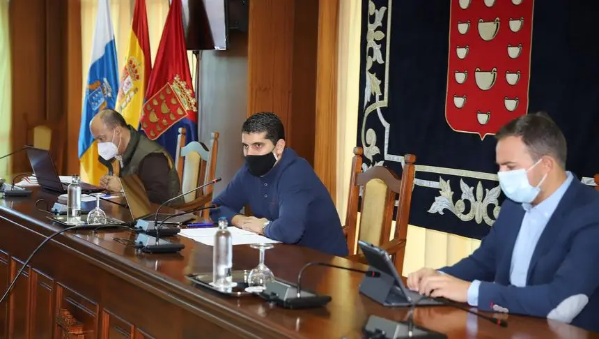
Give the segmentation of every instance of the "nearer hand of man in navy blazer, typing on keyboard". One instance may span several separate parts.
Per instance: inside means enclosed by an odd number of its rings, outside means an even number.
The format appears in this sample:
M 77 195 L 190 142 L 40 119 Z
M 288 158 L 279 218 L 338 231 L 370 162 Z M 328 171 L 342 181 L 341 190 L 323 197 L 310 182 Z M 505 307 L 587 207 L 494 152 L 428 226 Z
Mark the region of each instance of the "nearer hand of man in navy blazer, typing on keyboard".
M 468 301 L 468 288 L 470 283 L 449 274 L 437 273 L 435 276 L 426 276 L 420 280 L 418 292 L 433 298 L 443 297 L 465 303 Z

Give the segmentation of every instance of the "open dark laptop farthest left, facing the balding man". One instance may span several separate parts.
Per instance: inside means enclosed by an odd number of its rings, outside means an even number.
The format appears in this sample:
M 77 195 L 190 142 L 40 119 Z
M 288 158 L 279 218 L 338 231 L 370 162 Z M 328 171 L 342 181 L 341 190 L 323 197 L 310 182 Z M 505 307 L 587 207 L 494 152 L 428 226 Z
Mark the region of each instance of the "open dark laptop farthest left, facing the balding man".
M 69 183 L 61 182 L 52 156 L 50 156 L 50 151 L 31 146 L 25 146 L 25 149 L 38 184 L 47 190 L 61 194 L 67 193 Z M 104 188 L 90 185 L 89 183 L 79 183 L 79 186 L 81 186 L 81 193 L 98 193 L 104 191 Z

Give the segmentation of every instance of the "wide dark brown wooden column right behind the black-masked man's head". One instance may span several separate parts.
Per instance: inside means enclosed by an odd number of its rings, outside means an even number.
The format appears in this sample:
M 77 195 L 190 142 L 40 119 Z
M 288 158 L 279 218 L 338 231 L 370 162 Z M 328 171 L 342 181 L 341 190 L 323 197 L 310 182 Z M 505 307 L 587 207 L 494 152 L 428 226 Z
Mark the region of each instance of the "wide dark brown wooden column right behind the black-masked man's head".
M 248 115 L 272 111 L 314 163 L 318 0 L 249 2 Z

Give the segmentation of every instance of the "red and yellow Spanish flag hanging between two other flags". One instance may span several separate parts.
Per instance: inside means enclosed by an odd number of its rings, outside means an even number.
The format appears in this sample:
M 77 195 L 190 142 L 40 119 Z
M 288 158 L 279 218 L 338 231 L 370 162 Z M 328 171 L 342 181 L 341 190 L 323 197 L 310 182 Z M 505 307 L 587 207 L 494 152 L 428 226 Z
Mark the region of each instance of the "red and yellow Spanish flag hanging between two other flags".
M 135 0 L 129 47 L 125 54 L 125 66 L 120 73 L 120 86 L 116 98 L 116 110 L 135 128 L 139 126 L 139 116 L 151 72 L 146 0 Z

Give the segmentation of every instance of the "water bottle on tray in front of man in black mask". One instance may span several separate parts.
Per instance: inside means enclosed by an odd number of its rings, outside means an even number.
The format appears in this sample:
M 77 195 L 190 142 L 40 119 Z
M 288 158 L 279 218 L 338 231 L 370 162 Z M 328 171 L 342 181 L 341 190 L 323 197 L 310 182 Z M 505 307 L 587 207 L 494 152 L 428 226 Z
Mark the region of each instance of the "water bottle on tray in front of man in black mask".
M 233 285 L 233 241 L 228 231 L 226 217 L 219 218 L 219 229 L 215 234 L 212 253 L 212 283 L 215 287 L 227 288 Z

